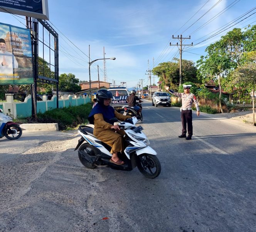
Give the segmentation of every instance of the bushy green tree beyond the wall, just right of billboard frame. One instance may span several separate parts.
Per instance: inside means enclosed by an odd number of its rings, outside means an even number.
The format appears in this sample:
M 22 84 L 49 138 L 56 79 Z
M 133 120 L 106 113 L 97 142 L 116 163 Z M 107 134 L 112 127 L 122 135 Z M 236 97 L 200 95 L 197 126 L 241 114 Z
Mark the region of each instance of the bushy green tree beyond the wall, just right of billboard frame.
M 79 92 L 81 90 L 79 79 L 72 73 L 59 75 L 59 90 L 73 93 Z

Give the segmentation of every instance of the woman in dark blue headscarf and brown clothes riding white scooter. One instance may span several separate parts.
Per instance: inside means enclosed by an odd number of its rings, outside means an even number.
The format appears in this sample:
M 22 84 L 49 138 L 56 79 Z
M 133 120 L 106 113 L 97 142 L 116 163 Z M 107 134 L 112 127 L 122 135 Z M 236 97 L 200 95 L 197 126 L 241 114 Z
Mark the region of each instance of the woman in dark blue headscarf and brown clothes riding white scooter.
M 97 104 L 94 106 L 88 116 L 89 123 L 94 124 L 93 134 L 96 138 L 112 147 L 110 153 L 113 156 L 110 162 L 123 165 L 124 162 L 118 157 L 118 152 L 122 152 L 123 136 L 125 132 L 120 130 L 118 125 L 110 121 L 111 118 L 117 118 L 120 121 L 125 121 L 130 116 L 125 116 L 118 113 L 110 104 L 113 95 L 106 89 L 100 89 L 96 94 Z

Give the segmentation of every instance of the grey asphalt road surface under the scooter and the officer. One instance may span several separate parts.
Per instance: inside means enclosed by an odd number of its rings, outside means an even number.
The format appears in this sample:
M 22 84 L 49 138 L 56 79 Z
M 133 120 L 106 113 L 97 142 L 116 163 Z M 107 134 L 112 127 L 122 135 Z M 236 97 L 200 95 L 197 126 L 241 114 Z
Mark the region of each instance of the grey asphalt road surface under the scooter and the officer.
M 0 139 L 0 231 L 255 231 L 256 128 L 193 113 L 186 141 L 178 108 L 143 106 L 156 179 L 84 168 L 76 132 Z

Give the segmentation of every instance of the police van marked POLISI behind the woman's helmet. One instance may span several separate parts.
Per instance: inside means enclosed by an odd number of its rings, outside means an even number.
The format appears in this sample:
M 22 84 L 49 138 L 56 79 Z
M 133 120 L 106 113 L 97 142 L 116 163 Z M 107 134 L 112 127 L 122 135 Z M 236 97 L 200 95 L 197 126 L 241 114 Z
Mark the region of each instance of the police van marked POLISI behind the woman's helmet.
M 124 106 L 128 105 L 126 99 L 130 94 L 125 87 L 113 87 L 109 88 L 108 91 L 113 94 L 111 106 L 113 106 L 116 111 L 119 112 L 123 110 Z

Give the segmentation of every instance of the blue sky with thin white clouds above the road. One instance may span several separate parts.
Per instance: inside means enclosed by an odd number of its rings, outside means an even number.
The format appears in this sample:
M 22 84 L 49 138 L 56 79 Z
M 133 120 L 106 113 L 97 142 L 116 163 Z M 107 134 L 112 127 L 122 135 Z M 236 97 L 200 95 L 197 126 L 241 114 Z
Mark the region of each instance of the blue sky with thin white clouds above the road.
M 206 46 L 227 31 L 254 25 L 256 21 L 254 0 L 49 0 L 48 5 L 49 24 L 59 33 L 59 73 L 73 73 L 79 80 L 89 80 L 89 45 L 91 60 L 103 58 L 104 46 L 106 58 L 116 57 L 106 60 L 108 82 L 126 82 L 128 88 L 137 86 L 140 79 L 143 86 L 148 85 L 148 68 L 179 58 L 177 46 L 169 46 L 170 42 L 179 42 L 172 35 L 191 36 L 183 43 L 193 42 L 195 46 L 184 48 L 182 58 L 195 62 L 205 55 Z M 248 14 L 242 16 L 245 13 Z M 228 26 L 231 28 L 221 32 L 221 27 L 239 17 Z M 1 23 L 24 27 L 22 18 L 0 12 Z M 216 32 L 219 34 L 201 42 Z M 98 80 L 97 65 L 103 80 L 103 61 L 99 60 L 91 65 L 92 81 Z M 152 76 L 152 84 L 153 80 L 158 81 Z

